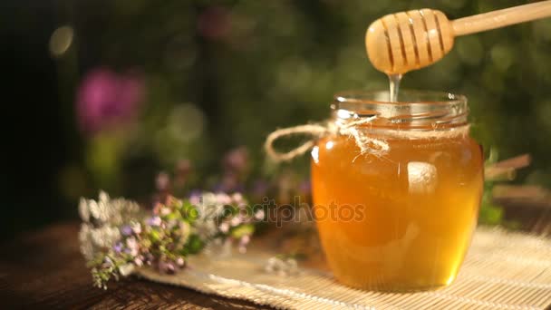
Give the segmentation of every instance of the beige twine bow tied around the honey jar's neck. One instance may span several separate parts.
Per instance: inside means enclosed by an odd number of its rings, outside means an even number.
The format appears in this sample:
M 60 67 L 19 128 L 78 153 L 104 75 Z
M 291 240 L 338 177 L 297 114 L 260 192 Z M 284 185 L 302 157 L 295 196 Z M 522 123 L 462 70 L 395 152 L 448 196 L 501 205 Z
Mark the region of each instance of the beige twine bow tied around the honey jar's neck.
M 349 121 L 346 123 L 330 122 L 327 121 L 324 124 L 308 124 L 295 127 L 289 127 L 280 129 L 270 133 L 264 144 L 264 148 L 268 156 L 275 161 L 288 161 L 293 160 L 297 156 L 303 155 L 306 151 L 312 149 L 317 139 L 322 138 L 328 134 L 341 133 L 347 135 L 356 142 L 356 145 L 360 149 L 360 155 L 373 154 L 381 156 L 390 150 L 387 142 L 384 140 L 378 140 L 368 137 L 362 130 L 359 130 L 357 126 L 370 123 L 377 116 L 365 117 L 358 121 Z M 307 140 L 297 148 L 288 152 L 278 152 L 274 149 L 274 141 L 292 135 L 311 135 L 313 139 Z

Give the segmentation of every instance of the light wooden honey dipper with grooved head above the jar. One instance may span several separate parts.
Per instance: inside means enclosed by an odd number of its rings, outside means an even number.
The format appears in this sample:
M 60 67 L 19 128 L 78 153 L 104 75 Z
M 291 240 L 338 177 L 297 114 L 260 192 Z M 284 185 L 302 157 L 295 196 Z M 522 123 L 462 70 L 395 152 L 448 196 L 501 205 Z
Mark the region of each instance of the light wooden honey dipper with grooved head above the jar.
M 377 70 L 403 74 L 438 62 L 454 37 L 551 16 L 551 0 L 450 21 L 437 10 L 422 9 L 385 15 L 365 34 L 367 55 Z

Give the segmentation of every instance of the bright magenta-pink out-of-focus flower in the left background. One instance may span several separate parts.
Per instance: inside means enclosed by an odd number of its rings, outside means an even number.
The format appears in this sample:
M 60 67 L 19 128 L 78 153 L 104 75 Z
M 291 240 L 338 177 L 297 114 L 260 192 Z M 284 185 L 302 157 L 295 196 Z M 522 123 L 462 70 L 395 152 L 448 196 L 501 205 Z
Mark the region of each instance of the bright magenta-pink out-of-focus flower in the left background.
M 138 74 L 92 70 L 84 76 L 76 95 L 81 130 L 95 133 L 133 121 L 143 96 L 144 82 Z

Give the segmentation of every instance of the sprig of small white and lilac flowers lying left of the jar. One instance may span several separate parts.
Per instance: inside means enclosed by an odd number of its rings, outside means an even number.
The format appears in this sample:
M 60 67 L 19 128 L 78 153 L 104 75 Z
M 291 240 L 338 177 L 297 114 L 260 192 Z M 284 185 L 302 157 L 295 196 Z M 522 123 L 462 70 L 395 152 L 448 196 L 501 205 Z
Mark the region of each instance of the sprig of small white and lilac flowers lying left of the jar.
M 140 215 L 137 204 L 125 199 L 82 199 L 82 254 L 92 268 L 95 286 L 107 288 L 111 278 L 131 275 L 151 266 L 173 274 L 190 255 L 208 245 L 238 241 L 244 251 L 264 211 L 255 210 L 241 194 L 201 193 L 189 199 L 168 197 L 152 214 Z

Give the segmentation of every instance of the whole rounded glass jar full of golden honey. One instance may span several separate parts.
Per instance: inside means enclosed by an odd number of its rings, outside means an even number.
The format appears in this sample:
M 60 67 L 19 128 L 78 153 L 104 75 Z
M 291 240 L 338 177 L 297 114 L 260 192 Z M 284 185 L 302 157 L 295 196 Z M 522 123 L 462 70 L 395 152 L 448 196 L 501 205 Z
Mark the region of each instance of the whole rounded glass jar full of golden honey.
M 333 275 L 348 286 L 447 286 L 477 225 L 483 155 L 469 137 L 466 98 L 410 91 L 400 100 L 336 95 L 332 122 L 341 130 L 312 150 L 316 225 Z M 366 151 L 354 132 L 367 138 Z

